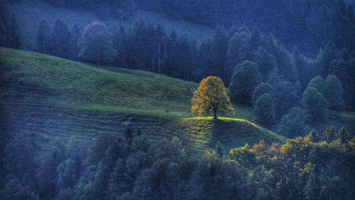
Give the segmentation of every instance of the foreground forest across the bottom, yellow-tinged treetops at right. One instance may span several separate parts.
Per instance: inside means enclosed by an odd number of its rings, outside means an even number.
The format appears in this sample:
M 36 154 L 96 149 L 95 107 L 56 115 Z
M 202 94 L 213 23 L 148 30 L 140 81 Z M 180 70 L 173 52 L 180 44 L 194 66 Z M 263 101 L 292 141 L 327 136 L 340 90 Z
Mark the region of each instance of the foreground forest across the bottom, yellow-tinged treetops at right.
M 4 138 L 2 138 L 4 139 Z M 355 138 L 345 128 L 284 145 L 245 145 L 199 158 L 178 138 L 149 142 L 141 131 L 38 145 L 11 135 L 1 147 L 1 199 L 354 199 Z M 4 149 L 3 149 L 4 148 Z M 192 152 L 189 152 L 192 153 Z

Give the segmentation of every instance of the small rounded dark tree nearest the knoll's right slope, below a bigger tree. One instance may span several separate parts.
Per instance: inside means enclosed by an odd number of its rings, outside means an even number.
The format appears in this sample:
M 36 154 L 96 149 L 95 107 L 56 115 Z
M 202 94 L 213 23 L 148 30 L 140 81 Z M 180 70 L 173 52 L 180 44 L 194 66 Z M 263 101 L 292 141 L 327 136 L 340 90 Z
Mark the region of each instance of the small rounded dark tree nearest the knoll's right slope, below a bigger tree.
M 256 122 L 265 126 L 270 126 L 275 121 L 275 104 L 271 94 L 263 94 L 256 101 L 254 109 Z

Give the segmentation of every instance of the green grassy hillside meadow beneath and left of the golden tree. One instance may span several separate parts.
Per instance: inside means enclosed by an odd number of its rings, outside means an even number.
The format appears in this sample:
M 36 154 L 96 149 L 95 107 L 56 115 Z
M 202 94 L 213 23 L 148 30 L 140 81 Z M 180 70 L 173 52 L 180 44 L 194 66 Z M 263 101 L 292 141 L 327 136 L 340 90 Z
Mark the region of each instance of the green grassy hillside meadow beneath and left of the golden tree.
M 7 48 L 0 57 L 1 109 L 11 133 L 89 142 L 130 127 L 152 140 L 178 137 L 188 152 L 214 148 L 218 140 L 225 150 L 260 139 L 285 141 L 245 119 L 194 118 L 193 82 Z M 236 110 L 235 116 L 251 118 L 250 109 Z

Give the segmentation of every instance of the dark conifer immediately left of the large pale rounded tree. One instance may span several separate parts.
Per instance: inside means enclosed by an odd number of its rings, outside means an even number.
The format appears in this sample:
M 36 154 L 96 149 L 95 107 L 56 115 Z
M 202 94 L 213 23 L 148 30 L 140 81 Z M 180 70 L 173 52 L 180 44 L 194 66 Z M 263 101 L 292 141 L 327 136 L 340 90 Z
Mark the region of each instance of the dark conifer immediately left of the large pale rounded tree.
M 63 23 L 60 19 L 55 21 L 52 29 L 50 53 L 58 57 L 68 57 L 68 51 L 70 46 L 70 32 L 67 25 Z

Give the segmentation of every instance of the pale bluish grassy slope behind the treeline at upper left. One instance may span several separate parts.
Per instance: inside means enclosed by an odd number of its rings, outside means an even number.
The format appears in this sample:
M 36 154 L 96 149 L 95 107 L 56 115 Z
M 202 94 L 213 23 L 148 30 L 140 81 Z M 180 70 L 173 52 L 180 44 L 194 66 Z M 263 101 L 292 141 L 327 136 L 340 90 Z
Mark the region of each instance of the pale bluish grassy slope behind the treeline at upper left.
M 21 31 L 21 42 L 24 50 L 35 50 L 35 35 L 40 21 L 45 18 L 50 28 L 52 28 L 55 20 L 60 18 L 71 29 L 75 24 L 86 26 L 92 21 L 100 21 L 107 23 L 109 26 L 124 26 L 131 28 L 137 21 L 143 19 L 146 23 L 162 26 L 168 33 L 171 30 L 176 30 L 179 35 L 187 35 L 190 38 L 204 40 L 212 38 L 214 30 L 207 26 L 202 26 L 196 23 L 187 21 L 175 21 L 167 18 L 164 14 L 153 13 L 149 11 L 136 11 L 134 17 L 129 21 L 116 21 L 114 19 L 102 21 L 94 13 L 89 11 L 73 11 L 63 8 L 58 8 L 44 1 L 19 1 L 11 4 L 6 4 L 7 16 L 11 17 L 13 13 L 18 21 Z

